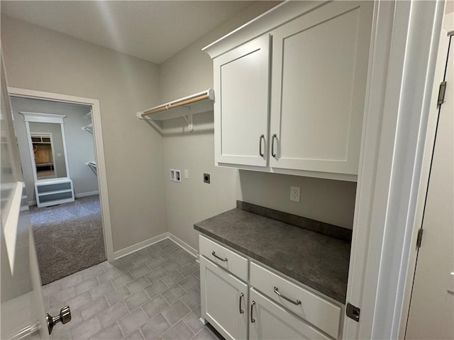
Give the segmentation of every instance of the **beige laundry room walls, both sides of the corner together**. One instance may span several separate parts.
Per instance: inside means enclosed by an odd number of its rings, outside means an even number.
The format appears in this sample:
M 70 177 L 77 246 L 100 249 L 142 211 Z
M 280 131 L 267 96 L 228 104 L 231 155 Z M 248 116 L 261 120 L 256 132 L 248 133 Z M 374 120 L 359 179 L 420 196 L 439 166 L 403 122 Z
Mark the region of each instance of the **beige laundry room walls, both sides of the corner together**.
M 355 183 L 262 174 L 214 166 L 213 113 L 164 123 L 162 138 L 135 112 L 213 86 L 201 47 L 275 6 L 255 3 L 184 48 L 160 67 L 44 28 L 2 18 L 1 40 L 9 86 L 97 98 L 101 103 L 114 250 L 169 231 L 198 249 L 194 222 L 234 208 L 236 200 L 351 228 Z M 35 67 L 39 65 L 39 67 Z M 170 169 L 189 171 L 182 183 Z M 203 183 L 204 172 L 211 184 Z M 289 186 L 301 187 L 301 202 Z

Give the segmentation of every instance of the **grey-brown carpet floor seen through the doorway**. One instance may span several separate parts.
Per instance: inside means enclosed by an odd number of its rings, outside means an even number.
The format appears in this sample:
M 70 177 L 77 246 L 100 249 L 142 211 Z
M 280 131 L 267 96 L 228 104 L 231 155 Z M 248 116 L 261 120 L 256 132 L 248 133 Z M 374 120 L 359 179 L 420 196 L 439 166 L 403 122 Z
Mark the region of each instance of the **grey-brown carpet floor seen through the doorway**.
M 30 209 L 43 285 L 106 261 L 99 196 Z

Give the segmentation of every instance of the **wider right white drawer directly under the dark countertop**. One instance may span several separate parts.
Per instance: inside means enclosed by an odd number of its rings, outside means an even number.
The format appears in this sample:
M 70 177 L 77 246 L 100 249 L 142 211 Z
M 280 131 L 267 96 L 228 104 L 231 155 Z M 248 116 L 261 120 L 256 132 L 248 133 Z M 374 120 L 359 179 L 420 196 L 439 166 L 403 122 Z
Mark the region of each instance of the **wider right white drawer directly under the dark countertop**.
M 250 263 L 250 285 L 287 310 L 314 324 L 326 334 L 335 339 L 338 338 L 341 307 L 252 262 Z M 298 304 L 295 305 L 277 293 L 288 297 L 289 300 L 301 301 L 301 303 L 297 302 Z

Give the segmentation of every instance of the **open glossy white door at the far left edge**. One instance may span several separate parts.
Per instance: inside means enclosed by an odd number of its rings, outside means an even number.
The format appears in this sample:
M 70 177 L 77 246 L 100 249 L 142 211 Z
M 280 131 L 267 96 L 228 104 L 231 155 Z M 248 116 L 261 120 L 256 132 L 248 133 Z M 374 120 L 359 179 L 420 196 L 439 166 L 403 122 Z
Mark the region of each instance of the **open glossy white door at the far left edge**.
M 1 334 L 0 339 L 49 339 L 41 280 L 23 181 L 3 57 L 1 64 Z M 25 203 L 25 207 L 21 205 Z

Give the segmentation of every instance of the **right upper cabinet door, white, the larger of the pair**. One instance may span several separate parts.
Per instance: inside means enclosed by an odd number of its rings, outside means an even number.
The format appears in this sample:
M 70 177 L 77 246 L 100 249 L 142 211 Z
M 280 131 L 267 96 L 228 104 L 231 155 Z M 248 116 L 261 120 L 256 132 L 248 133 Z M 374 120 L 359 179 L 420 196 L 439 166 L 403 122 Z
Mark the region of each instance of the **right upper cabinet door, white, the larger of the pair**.
M 272 33 L 270 166 L 358 174 L 372 10 L 335 1 Z

